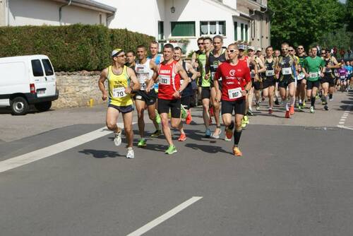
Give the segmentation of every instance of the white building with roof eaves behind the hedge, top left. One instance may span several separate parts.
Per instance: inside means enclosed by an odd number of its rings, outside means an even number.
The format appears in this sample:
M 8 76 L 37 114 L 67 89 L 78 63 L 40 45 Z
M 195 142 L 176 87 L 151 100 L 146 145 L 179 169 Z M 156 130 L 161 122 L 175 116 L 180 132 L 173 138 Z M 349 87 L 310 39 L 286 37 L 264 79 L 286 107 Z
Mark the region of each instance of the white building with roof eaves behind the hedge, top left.
M 92 0 L 1 0 L 0 26 L 107 25 L 116 8 Z

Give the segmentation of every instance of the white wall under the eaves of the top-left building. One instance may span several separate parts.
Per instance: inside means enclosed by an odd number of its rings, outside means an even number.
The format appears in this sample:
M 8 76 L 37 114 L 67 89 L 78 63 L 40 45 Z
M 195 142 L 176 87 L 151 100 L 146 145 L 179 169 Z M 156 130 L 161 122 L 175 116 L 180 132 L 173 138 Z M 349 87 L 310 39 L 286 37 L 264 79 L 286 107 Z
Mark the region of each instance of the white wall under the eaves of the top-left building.
M 59 25 L 59 7 L 56 1 L 11 0 L 10 25 Z M 78 6 L 62 8 L 64 25 L 73 23 L 99 24 L 100 13 Z M 102 13 L 102 23 L 106 22 L 106 13 Z

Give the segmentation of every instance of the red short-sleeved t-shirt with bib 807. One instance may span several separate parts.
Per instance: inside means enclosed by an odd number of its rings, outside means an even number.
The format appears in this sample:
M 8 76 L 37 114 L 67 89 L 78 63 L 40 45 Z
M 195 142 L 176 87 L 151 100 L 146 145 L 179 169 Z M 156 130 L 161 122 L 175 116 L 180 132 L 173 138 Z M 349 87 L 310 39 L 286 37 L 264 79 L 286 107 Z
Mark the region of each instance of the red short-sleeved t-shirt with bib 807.
M 229 62 L 223 62 L 218 66 L 215 79 L 222 77 L 222 100 L 235 101 L 244 99 L 241 90 L 244 90 L 246 83 L 251 81 L 250 70 L 246 63 L 238 61 L 232 66 Z

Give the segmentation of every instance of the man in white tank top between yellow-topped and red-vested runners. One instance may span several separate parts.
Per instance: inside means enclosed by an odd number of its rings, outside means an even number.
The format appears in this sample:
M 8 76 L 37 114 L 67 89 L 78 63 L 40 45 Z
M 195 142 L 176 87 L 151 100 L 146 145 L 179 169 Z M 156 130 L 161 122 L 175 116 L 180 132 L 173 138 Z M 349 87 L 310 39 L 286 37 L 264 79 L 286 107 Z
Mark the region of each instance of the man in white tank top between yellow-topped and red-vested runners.
M 147 49 L 143 45 L 137 47 L 137 57 L 138 61 L 135 66 L 136 76 L 140 83 L 140 90 L 136 91 L 135 105 L 138 114 L 138 131 L 140 133 L 140 140 L 138 141 L 138 147 L 143 148 L 146 146 L 145 139 L 145 121 L 144 121 L 144 112 L 145 107 L 148 110 L 148 116 L 150 120 L 155 125 L 156 131 L 153 134 L 160 135 L 160 126 L 156 122 L 155 115 L 155 101 L 157 99 L 157 94 L 155 90 L 151 90 L 150 93 L 146 93 L 146 85 L 153 76 L 153 69 L 156 64 L 151 59 L 147 59 Z

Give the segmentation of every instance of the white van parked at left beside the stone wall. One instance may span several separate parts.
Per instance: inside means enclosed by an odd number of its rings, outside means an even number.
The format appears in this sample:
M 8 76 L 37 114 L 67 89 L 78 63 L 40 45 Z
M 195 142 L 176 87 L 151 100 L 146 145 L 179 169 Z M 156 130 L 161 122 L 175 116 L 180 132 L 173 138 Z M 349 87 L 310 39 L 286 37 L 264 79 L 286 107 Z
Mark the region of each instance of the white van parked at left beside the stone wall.
M 49 110 L 58 99 L 52 63 L 45 55 L 0 58 L 0 107 L 26 114 L 29 105 Z

